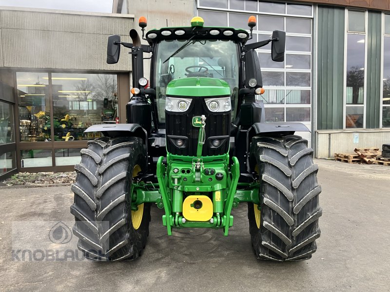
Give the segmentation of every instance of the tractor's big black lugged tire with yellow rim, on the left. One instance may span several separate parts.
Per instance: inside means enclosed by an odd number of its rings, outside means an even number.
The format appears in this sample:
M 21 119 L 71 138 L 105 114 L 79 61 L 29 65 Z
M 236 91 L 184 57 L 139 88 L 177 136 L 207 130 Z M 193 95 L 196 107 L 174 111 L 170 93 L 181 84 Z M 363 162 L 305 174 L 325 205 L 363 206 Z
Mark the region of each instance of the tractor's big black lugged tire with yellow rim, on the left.
M 75 165 L 76 182 L 71 213 L 78 249 L 93 260 L 134 260 L 149 235 L 150 204 L 131 209 L 133 177 L 145 165 L 142 139 L 98 138 L 81 150 Z

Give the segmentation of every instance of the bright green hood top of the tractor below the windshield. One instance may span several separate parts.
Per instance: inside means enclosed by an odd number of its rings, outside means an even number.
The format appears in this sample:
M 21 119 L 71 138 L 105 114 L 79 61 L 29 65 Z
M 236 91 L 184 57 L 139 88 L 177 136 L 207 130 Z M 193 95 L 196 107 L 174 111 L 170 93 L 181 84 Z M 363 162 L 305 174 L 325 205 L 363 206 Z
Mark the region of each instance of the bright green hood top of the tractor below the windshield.
M 229 84 L 218 78 L 189 77 L 175 79 L 167 85 L 167 95 L 222 96 L 230 95 Z

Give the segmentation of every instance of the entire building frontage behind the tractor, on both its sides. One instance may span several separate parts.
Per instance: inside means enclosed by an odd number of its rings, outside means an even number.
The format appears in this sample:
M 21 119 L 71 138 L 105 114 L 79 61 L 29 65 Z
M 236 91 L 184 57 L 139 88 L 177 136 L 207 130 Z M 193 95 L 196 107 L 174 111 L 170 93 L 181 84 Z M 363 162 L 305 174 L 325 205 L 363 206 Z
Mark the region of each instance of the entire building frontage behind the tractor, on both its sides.
M 247 27 L 254 39 L 286 31 L 284 62 L 257 50 L 267 121 L 302 122 L 315 157 L 390 143 L 390 0 L 114 0 L 113 13 L 0 7 L 0 178 L 68 171 L 99 133 L 126 122 L 130 58 L 107 65 L 107 37 L 147 29 Z M 145 70 L 145 77 L 148 77 Z

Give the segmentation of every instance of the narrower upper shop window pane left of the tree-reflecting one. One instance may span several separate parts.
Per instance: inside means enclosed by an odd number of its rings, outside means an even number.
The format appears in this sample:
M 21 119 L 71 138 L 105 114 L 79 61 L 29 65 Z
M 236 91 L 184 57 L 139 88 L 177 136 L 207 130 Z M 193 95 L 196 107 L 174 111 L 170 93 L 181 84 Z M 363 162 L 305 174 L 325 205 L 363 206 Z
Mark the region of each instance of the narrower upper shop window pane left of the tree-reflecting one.
M 51 139 L 48 73 L 17 72 L 21 142 Z

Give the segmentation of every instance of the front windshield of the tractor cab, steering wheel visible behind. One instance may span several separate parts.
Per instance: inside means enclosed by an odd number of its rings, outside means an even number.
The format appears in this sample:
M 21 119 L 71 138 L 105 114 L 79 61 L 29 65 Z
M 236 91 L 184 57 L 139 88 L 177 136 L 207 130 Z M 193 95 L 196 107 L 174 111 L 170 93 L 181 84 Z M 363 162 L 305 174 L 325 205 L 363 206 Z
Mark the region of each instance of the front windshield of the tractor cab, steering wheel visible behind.
M 166 89 L 173 79 L 212 77 L 225 80 L 230 86 L 232 110 L 236 108 L 239 76 L 237 43 L 216 39 L 193 39 L 186 43 L 185 39 L 158 43 L 155 84 L 159 123 L 165 123 Z

